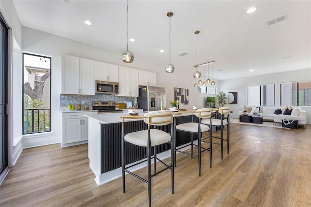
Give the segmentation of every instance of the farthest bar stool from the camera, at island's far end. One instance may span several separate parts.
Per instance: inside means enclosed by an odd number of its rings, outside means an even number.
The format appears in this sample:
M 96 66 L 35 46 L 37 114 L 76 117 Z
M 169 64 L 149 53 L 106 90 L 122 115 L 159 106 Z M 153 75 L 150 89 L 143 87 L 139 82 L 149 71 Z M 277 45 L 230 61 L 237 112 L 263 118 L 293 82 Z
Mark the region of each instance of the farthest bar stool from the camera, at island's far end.
M 218 144 L 221 146 L 221 155 L 222 155 L 222 159 L 223 159 L 224 141 L 227 141 L 227 153 L 229 155 L 229 134 L 230 134 L 229 114 L 230 114 L 230 107 L 229 106 L 221 107 L 218 109 L 218 113 L 220 114 L 221 118 L 220 119 L 211 119 L 211 126 L 216 126 L 216 127 L 219 126 L 220 127 L 220 138 L 212 136 L 213 138 L 220 139 L 220 144 L 217 142 L 212 142 L 212 144 Z M 224 115 L 226 115 L 226 120 L 224 120 Z M 208 122 L 206 120 L 201 121 L 201 123 L 207 124 L 210 126 L 210 122 Z M 224 126 L 225 125 L 227 126 L 227 137 L 226 138 L 224 138 Z

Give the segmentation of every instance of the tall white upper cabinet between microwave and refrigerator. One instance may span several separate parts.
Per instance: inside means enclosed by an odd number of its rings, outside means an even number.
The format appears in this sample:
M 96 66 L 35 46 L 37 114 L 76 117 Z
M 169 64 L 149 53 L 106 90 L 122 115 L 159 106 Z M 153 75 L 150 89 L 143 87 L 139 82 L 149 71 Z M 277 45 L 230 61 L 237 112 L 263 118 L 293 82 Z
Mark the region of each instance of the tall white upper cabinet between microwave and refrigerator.
M 138 97 L 138 69 L 119 66 L 118 96 Z

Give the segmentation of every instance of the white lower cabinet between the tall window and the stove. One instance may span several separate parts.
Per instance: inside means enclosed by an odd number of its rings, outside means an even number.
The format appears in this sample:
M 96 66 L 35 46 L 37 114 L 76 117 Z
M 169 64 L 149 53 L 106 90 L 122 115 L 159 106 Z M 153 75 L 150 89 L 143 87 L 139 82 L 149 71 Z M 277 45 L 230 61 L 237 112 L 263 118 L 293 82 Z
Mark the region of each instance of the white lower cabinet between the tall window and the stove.
M 88 118 L 84 114 L 96 112 L 62 113 L 62 147 L 87 143 Z

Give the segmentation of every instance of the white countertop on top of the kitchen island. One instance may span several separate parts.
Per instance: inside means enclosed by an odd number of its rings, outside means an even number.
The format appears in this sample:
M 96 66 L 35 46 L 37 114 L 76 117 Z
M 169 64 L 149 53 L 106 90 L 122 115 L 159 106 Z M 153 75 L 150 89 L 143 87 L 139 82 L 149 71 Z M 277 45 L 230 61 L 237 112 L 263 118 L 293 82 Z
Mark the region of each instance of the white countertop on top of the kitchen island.
M 144 116 L 144 114 L 147 112 L 141 112 L 138 113 L 139 116 Z M 104 123 L 104 124 L 108 124 L 108 123 L 120 123 L 122 121 L 121 117 L 122 116 L 126 116 L 127 115 L 127 111 L 123 111 L 121 113 L 104 113 L 104 114 L 85 114 L 84 116 L 98 121 L 100 123 Z M 192 113 L 182 113 L 179 112 L 178 114 L 176 114 L 176 116 L 190 116 L 192 115 Z M 138 120 L 142 120 L 143 118 L 141 117 L 141 119 L 128 119 L 126 121 L 138 121 Z

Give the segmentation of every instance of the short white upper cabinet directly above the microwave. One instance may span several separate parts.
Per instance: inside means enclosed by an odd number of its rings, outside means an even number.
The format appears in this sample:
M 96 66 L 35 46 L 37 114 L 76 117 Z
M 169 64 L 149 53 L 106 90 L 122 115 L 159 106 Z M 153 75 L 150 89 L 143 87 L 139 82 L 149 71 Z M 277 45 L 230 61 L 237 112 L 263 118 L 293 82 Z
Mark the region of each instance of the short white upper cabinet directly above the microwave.
M 95 80 L 119 82 L 119 67 L 116 65 L 95 61 Z

